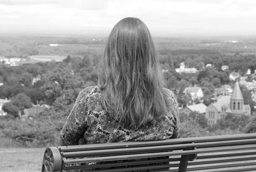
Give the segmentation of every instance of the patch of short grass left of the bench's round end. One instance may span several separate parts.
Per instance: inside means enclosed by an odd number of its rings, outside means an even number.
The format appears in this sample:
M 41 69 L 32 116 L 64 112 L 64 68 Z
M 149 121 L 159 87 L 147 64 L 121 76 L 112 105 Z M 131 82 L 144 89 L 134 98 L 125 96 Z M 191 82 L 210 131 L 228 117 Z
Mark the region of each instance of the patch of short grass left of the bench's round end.
M 0 148 L 0 172 L 41 171 L 45 148 Z

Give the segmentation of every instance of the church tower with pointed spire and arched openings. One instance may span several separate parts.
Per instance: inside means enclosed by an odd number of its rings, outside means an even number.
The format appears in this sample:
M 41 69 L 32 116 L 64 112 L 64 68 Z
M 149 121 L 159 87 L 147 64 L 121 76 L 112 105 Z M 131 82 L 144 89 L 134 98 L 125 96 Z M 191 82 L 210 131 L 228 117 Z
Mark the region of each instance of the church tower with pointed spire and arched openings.
M 230 109 L 232 113 L 243 114 L 243 95 L 241 93 L 238 81 L 236 81 L 236 85 L 230 99 Z

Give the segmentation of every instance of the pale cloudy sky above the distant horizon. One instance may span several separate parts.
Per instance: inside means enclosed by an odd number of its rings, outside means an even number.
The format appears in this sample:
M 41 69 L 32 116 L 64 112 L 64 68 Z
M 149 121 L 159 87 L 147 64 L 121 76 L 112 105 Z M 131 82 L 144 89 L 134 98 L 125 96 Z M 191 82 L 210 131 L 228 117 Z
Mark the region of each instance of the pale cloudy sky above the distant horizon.
M 0 0 L 0 35 L 108 36 L 125 17 L 152 36 L 256 36 L 255 0 Z

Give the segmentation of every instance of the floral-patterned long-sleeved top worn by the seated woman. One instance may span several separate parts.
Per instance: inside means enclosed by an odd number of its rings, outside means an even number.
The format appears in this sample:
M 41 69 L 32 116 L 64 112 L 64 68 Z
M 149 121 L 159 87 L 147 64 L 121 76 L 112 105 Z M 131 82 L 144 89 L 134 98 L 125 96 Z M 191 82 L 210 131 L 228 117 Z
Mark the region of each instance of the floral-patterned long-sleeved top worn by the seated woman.
M 86 87 L 77 97 L 60 134 L 60 145 L 103 144 L 110 142 L 156 141 L 177 138 L 179 112 L 174 93 L 168 95 L 168 112 L 147 126 L 127 129 L 114 123 L 102 106 L 99 86 Z

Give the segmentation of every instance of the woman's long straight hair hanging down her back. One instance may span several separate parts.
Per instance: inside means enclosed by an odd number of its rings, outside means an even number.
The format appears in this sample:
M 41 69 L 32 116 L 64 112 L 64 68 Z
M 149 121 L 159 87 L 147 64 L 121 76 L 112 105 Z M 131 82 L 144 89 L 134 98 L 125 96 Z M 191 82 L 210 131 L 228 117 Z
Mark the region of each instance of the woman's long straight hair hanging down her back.
M 105 47 L 100 84 L 105 108 L 126 127 L 146 126 L 167 112 L 154 42 L 138 18 L 115 24 Z

